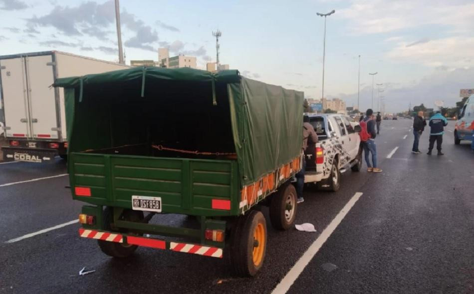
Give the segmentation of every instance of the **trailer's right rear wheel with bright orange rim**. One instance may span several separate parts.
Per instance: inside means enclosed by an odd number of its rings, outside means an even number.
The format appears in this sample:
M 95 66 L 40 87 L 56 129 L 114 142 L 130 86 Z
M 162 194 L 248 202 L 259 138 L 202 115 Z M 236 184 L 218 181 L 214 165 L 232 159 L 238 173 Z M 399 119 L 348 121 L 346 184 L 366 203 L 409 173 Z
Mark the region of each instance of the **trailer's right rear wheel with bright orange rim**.
M 237 219 L 230 253 L 238 276 L 253 277 L 261 269 L 266 253 L 266 221 L 259 211 L 251 210 Z

